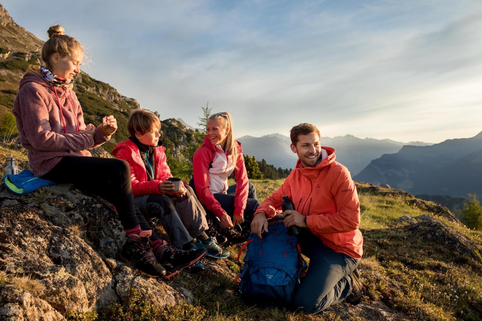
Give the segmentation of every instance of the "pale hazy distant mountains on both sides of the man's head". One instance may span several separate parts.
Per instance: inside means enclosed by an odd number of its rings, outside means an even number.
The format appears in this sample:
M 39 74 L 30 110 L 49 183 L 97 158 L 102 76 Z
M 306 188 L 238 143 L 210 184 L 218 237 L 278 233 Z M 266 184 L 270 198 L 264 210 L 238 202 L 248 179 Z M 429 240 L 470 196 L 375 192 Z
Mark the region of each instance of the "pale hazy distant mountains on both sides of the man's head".
M 281 168 L 293 168 L 297 157 L 290 149 L 290 137 L 269 134 L 261 137 L 242 136 L 237 138 L 245 154 L 265 159 Z M 390 139 L 358 138 L 353 135 L 321 137 L 321 145 L 335 148 L 336 161 L 347 166 L 352 175 L 362 171 L 370 161 L 386 153 L 396 153 L 404 145 L 429 146 L 431 143 L 402 143 Z

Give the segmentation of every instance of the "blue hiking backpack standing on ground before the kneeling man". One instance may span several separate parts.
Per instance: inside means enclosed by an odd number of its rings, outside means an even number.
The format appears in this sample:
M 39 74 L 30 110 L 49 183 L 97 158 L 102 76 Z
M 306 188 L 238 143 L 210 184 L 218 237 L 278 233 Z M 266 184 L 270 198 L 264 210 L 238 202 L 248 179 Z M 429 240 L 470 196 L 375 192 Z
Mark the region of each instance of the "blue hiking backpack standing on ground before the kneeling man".
M 240 299 L 257 305 L 291 307 L 304 270 L 296 235 L 289 235 L 280 221 L 268 225 L 268 233 L 261 241 L 252 233 L 241 247 L 238 261 L 245 247 L 248 249 L 239 276 Z

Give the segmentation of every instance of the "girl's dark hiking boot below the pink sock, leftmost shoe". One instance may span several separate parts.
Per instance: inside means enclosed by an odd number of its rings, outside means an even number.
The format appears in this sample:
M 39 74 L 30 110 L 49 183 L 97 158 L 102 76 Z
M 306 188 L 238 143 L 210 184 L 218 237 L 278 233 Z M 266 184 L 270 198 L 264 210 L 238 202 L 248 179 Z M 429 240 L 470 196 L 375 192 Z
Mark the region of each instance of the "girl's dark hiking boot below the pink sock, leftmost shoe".
M 152 231 L 142 231 L 140 235 L 131 234 L 122 247 L 120 258 L 144 272 L 150 278 L 159 278 L 166 274 L 166 269 L 156 261 L 151 248 Z

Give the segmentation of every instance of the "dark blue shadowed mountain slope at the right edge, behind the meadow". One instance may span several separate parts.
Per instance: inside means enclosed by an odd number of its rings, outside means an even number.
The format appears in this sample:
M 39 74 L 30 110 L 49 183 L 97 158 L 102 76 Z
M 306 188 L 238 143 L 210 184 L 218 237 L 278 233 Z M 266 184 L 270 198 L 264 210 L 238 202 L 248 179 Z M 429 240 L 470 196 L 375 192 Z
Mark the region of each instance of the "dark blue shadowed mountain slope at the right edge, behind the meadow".
M 415 194 L 465 197 L 482 193 L 482 132 L 432 146 L 403 146 L 370 162 L 357 181 L 388 184 Z

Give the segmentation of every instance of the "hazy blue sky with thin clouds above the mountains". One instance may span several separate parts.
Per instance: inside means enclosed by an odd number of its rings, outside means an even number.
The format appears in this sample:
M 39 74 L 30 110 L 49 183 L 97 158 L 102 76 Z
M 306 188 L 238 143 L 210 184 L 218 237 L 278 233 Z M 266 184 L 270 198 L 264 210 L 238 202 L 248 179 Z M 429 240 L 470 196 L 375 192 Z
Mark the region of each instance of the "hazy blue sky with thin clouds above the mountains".
M 233 114 L 237 137 L 299 122 L 323 136 L 441 142 L 482 131 L 482 1 L 1 1 L 83 70 L 161 118 Z M 47 4 L 48 3 L 48 4 Z

